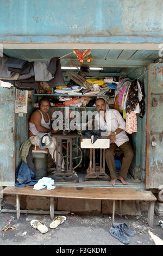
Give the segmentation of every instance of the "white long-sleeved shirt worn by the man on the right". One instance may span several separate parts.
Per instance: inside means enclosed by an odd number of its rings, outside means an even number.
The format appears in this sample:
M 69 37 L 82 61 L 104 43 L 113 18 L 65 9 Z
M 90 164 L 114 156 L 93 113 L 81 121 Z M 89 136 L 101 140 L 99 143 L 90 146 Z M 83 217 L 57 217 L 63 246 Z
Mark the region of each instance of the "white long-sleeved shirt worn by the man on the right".
M 101 129 L 108 132 L 115 132 L 118 128 L 121 128 L 123 131 L 115 136 L 115 143 L 118 147 L 120 147 L 120 145 L 122 145 L 124 142 L 129 141 L 129 138 L 124 131 L 126 127 L 126 122 L 122 118 L 120 112 L 118 112 L 116 109 L 106 108 L 105 120 L 100 113 L 95 115 L 95 122 L 98 130 Z

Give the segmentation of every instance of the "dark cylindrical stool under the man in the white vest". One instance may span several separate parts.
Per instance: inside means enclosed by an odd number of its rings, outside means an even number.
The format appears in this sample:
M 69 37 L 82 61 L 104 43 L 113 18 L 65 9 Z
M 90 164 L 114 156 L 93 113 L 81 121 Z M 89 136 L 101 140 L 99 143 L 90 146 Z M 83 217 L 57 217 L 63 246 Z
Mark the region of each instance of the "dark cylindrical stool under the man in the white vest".
M 35 165 L 35 179 L 42 179 L 47 176 L 48 149 L 40 149 L 39 147 L 34 146 L 32 149 L 32 155 Z

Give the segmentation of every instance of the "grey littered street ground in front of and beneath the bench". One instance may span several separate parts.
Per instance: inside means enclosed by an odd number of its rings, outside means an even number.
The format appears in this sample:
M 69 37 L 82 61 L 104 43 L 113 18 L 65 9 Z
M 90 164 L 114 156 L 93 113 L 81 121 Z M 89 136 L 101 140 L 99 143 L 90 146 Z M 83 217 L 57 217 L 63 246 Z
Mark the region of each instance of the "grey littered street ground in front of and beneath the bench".
M 15 217 L 11 223 L 15 230 L 2 231 L 11 216 Z M 92 245 L 94 247 L 123 245 L 109 234 L 109 229 L 112 226 L 111 215 L 71 215 L 66 217 L 65 223 L 53 230 L 48 228 L 46 234 L 41 234 L 38 230 L 30 227 L 30 221 L 41 220 L 48 227 L 51 223 L 49 215 L 21 214 L 20 220 L 16 220 L 16 214 L 0 214 L 0 245 Z M 148 231 L 163 240 L 163 228 L 158 225 L 158 221 L 163 221 L 163 217 L 154 215 L 153 229 L 148 227 L 147 212 L 143 212 L 141 216 L 115 217 L 116 222 L 127 223 L 135 232 L 134 237 L 128 237 L 129 245 L 155 245 Z

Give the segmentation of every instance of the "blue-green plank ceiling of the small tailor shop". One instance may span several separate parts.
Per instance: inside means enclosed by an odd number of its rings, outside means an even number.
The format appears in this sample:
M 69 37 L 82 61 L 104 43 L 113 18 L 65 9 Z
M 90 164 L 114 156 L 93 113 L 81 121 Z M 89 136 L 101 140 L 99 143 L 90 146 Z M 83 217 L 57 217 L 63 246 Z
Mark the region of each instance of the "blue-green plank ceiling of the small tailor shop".
M 84 50 L 83 50 L 84 51 Z M 8 57 L 27 59 L 30 61 L 44 61 L 53 57 L 62 57 L 61 66 L 79 66 L 77 56 L 68 50 L 35 50 L 35 49 L 4 49 L 3 53 Z M 159 51 L 156 50 L 91 50 L 92 62 L 90 67 L 103 67 L 101 71 L 91 71 L 98 75 L 109 73 L 110 75 L 126 74 L 128 68 L 139 68 L 149 63 L 159 61 Z M 63 72 L 66 72 L 66 70 Z

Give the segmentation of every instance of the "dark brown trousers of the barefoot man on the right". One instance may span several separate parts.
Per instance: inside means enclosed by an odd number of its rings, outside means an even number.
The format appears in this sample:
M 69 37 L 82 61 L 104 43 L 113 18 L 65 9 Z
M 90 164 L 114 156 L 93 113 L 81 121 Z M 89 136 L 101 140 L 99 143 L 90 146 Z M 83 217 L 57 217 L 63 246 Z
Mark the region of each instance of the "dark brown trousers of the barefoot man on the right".
M 112 178 L 116 178 L 116 167 L 115 167 L 115 150 L 117 148 L 117 145 L 115 143 L 110 144 L 109 149 L 105 149 L 105 160 L 108 165 L 108 168 L 110 170 L 110 176 Z M 129 141 L 124 142 L 120 147 L 118 147 L 122 150 L 124 157 L 122 159 L 122 166 L 119 172 L 119 175 L 123 178 L 127 178 L 127 173 L 130 167 L 130 164 L 133 160 L 134 153 L 133 149 L 131 148 L 131 144 Z

